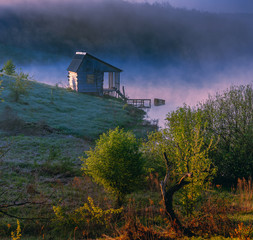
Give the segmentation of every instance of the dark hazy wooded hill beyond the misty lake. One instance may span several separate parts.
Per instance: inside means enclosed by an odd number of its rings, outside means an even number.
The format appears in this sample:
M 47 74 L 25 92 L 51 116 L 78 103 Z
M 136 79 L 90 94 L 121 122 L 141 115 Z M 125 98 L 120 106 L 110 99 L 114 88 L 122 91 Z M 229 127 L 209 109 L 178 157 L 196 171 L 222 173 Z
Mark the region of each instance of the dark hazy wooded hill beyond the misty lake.
M 31 51 L 69 57 L 85 50 L 160 67 L 168 61 L 252 57 L 252 23 L 253 14 L 214 14 L 165 3 L 47 1 L 45 7 L 30 1 L 0 6 L 0 43 L 27 49 L 25 57 Z

